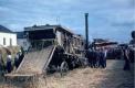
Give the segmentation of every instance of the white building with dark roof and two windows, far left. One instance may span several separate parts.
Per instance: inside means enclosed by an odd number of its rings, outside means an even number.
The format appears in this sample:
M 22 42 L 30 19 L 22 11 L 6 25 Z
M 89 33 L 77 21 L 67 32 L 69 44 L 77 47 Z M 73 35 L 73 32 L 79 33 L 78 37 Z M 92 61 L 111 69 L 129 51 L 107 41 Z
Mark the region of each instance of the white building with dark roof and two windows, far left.
M 0 46 L 17 46 L 17 34 L 0 25 Z

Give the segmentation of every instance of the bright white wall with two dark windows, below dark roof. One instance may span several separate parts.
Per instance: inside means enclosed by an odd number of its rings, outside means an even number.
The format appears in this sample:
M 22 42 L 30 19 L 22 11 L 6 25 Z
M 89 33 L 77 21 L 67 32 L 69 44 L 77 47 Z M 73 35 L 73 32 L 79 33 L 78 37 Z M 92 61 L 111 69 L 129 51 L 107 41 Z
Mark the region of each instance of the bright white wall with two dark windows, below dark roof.
M 3 37 L 6 38 L 6 45 L 3 45 Z M 0 32 L 0 45 L 10 46 L 10 38 L 12 40 L 12 46 L 17 46 L 17 34 Z

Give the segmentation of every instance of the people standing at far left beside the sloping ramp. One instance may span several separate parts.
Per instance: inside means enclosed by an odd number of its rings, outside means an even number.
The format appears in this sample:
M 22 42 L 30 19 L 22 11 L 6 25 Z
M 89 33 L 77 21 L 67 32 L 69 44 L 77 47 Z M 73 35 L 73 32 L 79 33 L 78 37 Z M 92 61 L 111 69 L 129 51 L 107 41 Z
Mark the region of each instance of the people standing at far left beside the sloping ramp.
M 14 59 L 12 58 L 11 54 L 8 54 L 4 63 L 2 54 L 0 54 L 0 75 L 11 73 L 14 68 L 17 69 L 20 63 L 22 62 L 23 57 L 24 57 L 23 52 L 19 51 L 15 54 Z

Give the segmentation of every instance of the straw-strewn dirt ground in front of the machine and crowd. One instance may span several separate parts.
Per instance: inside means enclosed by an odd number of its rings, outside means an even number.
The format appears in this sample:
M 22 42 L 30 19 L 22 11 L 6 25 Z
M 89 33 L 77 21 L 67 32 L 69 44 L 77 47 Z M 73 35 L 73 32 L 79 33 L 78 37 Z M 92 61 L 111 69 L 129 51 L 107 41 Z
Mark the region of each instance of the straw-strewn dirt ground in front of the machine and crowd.
M 134 88 L 134 73 L 123 70 L 124 62 L 110 59 L 107 67 L 103 68 L 76 68 L 70 70 L 66 76 L 60 74 L 49 75 L 46 78 L 39 78 L 35 88 Z M 34 88 L 22 82 L 3 81 L 1 78 L 0 88 Z

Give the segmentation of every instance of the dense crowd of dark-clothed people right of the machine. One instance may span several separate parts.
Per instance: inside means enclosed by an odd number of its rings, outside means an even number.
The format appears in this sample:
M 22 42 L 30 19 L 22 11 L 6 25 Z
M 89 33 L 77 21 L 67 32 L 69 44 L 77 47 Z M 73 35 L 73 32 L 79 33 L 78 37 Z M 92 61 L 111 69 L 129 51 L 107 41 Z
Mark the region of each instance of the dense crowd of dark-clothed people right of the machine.
M 112 57 L 111 57 L 112 56 Z M 100 47 L 100 48 L 92 48 L 87 51 L 89 58 L 89 66 L 92 68 L 105 68 L 106 67 L 106 59 L 113 58 L 113 59 L 124 59 L 125 64 L 123 69 L 129 70 L 131 69 L 131 63 L 134 63 L 134 51 L 128 47 L 128 45 L 124 45 L 123 47 L 118 48 L 106 48 L 106 47 Z

